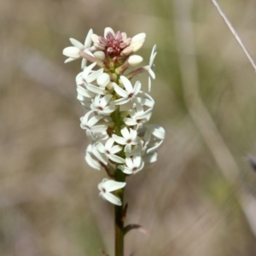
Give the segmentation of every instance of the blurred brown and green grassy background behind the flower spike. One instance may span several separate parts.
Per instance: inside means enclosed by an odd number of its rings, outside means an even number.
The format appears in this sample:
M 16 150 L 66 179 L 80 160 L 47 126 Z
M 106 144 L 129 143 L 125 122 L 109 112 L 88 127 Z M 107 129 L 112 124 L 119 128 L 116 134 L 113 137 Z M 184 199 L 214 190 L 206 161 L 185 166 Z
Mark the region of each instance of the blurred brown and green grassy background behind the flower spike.
M 256 2 L 219 0 L 256 57 Z M 104 172 L 84 161 L 80 61 L 68 38 L 106 26 L 154 44 L 152 123 L 166 129 L 153 169 L 129 177 L 125 255 L 256 255 L 256 77 L 211 1 L 0 0 L 0 255 L 113 255 Z M 142 81 L 147 88 L 147 75 Z M 133 253 L 133 254 L 132 254 Z

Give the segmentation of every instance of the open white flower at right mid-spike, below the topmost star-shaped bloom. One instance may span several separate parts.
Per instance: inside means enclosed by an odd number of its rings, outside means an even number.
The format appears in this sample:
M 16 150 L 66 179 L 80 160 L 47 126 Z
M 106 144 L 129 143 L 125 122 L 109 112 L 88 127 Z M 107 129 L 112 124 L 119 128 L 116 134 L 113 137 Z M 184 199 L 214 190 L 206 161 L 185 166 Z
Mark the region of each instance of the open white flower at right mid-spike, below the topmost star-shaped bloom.
M 148 122 L 153 109 L 148 108 L 146 111 L 144 111 L 143 105 L 141 105 L 139 102 L 136 102 L 135 106 L 137 108 L 137 111 L 135 111 L 134 109 L 129 110 L 130 118 L 125 118 L 124 122 L 125 125 L 129 126 L 137 125 L 136 129 L 139 129 L 143 127 L 144 123 Z

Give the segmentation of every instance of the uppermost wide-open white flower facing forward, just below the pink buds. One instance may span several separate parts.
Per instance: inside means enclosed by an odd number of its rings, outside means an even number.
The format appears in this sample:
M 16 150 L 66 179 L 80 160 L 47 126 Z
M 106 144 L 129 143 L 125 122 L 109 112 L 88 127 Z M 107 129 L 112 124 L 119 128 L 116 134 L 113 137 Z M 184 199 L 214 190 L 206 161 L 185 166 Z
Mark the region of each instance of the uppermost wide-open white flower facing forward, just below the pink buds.
M 125 90 L 123 90 L 121 87 L 119 87 L 118 84 L 113 83 L 113 89 L 116 91 L 116 93 L 121 96 L 119 100 L 116 100 L 116 105 L 123 105 L 127 102 L 130 102 L 132 99 L 137 96 L 139 90 L 141 90 L 142 84 L 140 81 L 137 81 L 134 85 L 134 88 L 132 88 L 131 82 L 129 79 L 126 79 L 125 76 L 120 76 L 120 80 L 124 84 Z

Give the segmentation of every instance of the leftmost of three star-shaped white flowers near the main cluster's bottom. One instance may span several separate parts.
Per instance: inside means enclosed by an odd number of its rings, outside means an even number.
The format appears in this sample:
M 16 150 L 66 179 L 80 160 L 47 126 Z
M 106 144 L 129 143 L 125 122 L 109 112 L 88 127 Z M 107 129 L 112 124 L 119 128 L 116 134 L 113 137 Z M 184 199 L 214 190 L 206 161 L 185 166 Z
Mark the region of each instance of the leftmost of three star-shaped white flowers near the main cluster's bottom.
M 113 162 L 119 163 L 119 164 L 123 164 L 125 163 L 125 160 L 121 157 L 119 157 L 118 155 L 116 155 L 118 152 L 120 152 L 123 148 L 120 147 L 119 145 L 113 145 L 114 140 L 112 137 L 110 137 L 107 141 L 107 143 L 105 144 L 105 146 L 103 146 L 102 143 L 97 143 L 96 144 L 96 148 L 98 149 L 98 151 L 100 153 L 102 153 L 101 155 L 96 154 L 96 157 L 99 160 L 105 160 L 106 157 L 108 157 L 108 159 L 113 160 Z M 103 161 L 102 161 L 103 162 Z M 106 164 L 106 160 L 105 160 L 105 164 Z

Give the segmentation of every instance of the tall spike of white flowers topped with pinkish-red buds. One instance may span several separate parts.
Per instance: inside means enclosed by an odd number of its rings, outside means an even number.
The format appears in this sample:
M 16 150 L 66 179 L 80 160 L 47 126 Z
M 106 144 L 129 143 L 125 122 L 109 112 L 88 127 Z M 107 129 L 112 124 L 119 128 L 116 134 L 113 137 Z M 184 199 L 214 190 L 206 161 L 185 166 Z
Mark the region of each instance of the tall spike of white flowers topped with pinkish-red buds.
M 68 57 L 65 62 L 82 59 L 83 71 L 76 77 L 78 100 L 89 111 L 80 120 L 92 141 L 85 160 L 96 170 L 105 169 L 112 178 L 104 178 L 98 188 L 103 199 L 118 206 L 122 204 L 118 195 L 125 187 L 125 177 L 153 166 L 165 137 L 162 127 L 147 124 L 153 98 L 142 90 L 140 81 L 131 83 L 137 74 L 148 73 L 150 90 L 155 78 L 155 45 L 148 66 L 128 72 L 143 61 L 134 53 L 143 46 L 145 37 L 139 33 L 128 38 L 125 32 L 113 32 L 110 27 L 101 37 L 90 29 L 84 44 L 70 38 L 73 46 L 63 50 Z

